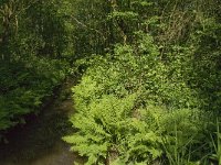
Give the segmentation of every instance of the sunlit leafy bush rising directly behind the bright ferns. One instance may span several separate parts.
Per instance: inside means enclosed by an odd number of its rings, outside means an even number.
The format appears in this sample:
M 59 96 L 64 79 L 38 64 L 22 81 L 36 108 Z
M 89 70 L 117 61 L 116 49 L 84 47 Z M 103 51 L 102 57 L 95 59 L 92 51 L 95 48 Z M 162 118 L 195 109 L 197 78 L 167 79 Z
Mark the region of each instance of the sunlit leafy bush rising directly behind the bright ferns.
M 138 90 L 143 105 L 150 101 L 177 108 L 196 107 L 198 96 L 182 80 L 185 77 L 180 73 L 186 66 L 172 61 L 175 66 L 169 67 L 161 61 L 151 36 L 137 35 L 137 45 L 117 45 L 113 55 L 91 59 L 91 67 L 73 89 L 76 108 L 104 94 L 124 97 Z

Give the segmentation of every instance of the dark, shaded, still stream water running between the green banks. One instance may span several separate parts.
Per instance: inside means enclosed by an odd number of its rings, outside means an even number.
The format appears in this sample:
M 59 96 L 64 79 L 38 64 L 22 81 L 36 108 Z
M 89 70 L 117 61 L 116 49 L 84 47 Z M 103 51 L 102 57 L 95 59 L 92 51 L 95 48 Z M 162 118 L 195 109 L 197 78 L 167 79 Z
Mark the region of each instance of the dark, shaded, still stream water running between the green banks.
M 54 98 L 39 116 L 27 117 L 27 124 L 15 127 L 6 135 L 8 143 L 0 145 L 1 165 L 73 164 L 77 156 L 61 140 L 72 131 L 69 113 L 73 112 L 73 101 L 62 100 L 64 95 Z

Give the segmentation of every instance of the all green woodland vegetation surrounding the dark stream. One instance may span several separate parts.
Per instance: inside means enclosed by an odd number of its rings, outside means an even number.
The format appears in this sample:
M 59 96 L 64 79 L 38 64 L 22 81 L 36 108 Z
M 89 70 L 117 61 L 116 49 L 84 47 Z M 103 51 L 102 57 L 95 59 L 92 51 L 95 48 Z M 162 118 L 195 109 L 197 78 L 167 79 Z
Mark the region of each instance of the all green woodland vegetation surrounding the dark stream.
M 0 2 L 0 131 L 71 74 L 86 164 L 220 164 L 219 0 Z

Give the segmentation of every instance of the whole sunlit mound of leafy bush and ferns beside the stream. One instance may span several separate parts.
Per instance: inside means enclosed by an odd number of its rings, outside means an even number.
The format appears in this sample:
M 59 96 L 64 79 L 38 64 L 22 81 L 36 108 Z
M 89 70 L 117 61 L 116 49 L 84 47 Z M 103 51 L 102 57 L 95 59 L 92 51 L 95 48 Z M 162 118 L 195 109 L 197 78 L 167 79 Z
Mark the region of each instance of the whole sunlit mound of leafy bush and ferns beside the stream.
M 151 36 L 136 35 L 136 46 L 117 45 L 114 54 L 87 63 L 73 88 L 77 132 L 64 141 L 87 164 L 151 164 L 165 155 L 185 165 L 203 136 L 201 113 L 193 109 L 198 97 L 183 80 L 179 58 L 168 67 Z

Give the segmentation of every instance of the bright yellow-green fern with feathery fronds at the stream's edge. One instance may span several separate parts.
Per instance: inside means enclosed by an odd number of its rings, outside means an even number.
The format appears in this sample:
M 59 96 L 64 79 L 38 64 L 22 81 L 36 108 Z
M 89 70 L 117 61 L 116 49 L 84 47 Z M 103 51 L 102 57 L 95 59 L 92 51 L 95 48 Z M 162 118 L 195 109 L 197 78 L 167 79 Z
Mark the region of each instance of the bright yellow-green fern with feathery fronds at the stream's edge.
M 87 156 L 87 164 L 114 162 L 150 162 L 161 155 L 160 136 L 143 120 L 134 117 L 136 94 L 125 98 L 112 95 L 90 103 L 77 112 L 72 123 L 77 133 L 65 136 L 72 151 Z

